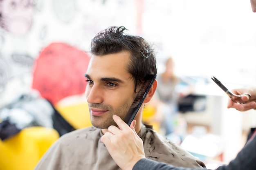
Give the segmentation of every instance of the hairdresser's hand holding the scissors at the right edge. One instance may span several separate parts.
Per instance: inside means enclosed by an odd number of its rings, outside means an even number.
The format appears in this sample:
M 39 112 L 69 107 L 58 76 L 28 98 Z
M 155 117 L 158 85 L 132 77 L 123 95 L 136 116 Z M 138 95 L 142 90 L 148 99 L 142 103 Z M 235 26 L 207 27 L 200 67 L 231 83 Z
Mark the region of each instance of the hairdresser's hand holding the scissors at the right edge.
M 234 103 L 231 99 L 229 99 L 227 108 L 235 108 L 236 110 L 239 110 L 239 111 L 246 111 L 246 110 L 256 108 L 256 87 L 237 88 L 237 89 L 233 89 L 231 92 L 236 95 L 243 95 L 245 93 L 249 93 L 251 97 L 249 97 L 249 95 L 242 96 L 242 100 L 246 102 L 245 104 L 237 104 L 237 103 Z M 234 97 L 234 99 L 236 100 L 236 97 Z

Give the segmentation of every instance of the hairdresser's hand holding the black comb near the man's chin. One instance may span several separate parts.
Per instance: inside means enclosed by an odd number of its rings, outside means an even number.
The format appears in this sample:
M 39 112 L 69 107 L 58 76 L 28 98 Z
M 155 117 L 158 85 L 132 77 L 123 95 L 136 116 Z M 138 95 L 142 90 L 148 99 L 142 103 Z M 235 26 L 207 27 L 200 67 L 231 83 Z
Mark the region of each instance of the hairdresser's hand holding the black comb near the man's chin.
M 101 141 L 122 170 L 132 170 L 137 161 L 145 158 L 143 141 L 135 132 L 135 121 L 130 127 L 117 115 L 113 115 L 119 128 L 110 126 Z

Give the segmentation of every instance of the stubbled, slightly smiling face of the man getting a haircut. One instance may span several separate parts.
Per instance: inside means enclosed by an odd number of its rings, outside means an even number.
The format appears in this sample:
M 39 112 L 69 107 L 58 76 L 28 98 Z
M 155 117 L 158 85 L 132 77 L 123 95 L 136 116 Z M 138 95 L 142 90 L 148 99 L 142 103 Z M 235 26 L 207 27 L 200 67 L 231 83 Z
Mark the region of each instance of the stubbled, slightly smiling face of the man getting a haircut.
M 129 59 L 127 51 L 92 56 L 85 74 L 88 81 L 85 96 L 93 126 L 106 129 L 116 125 L 112 115 L 124 119 L 135 99 L 134 80 L 127 72 Z

